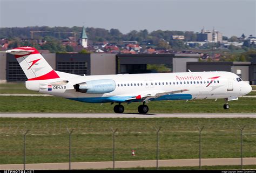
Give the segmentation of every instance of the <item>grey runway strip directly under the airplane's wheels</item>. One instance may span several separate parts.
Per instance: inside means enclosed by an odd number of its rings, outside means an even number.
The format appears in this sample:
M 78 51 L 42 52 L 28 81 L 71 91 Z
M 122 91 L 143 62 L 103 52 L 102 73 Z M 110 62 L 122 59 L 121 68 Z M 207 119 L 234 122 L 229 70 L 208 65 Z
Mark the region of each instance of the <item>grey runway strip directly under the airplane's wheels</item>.
M 115 114 L 115 113 L 0 113 L 0 117 L 77 117 L 77 118 L 161 118 L 161 117 L 180 117 L 180 118 L 256 118 L 256 114 Z

